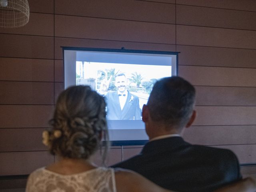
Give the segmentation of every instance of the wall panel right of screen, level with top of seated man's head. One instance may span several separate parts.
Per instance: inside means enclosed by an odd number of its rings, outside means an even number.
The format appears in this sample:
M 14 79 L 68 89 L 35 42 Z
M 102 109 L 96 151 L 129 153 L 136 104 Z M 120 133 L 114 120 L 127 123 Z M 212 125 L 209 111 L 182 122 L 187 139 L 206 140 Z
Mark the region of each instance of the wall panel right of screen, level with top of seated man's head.
M 179 76 L 194 86 L 256 87 L 256 68 L 179 66 Z

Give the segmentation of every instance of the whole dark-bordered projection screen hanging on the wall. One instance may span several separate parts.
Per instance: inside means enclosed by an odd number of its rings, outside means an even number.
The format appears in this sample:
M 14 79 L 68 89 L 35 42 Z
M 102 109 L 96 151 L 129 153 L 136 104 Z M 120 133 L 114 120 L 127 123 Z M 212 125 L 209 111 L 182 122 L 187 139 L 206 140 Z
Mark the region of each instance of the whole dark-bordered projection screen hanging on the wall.
M 65 89 L 88 85 L 106 98 L 112 145 L 145 144 L 148 136 L 141 120 L 142 106 L 158 79 L 178 74 L 178 52 L 62 48 Z M 106 82 L 107 90 L 102 92 Z M 125 96 L 119 94 L 122 90 Z

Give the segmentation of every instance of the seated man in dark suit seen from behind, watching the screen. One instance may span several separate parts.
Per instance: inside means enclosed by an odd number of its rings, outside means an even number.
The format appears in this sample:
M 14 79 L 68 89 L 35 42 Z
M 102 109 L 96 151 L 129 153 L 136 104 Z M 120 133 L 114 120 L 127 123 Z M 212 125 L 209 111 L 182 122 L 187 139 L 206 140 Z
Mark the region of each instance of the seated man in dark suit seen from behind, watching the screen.
M 181 137 L 196 118 L 195 89 L 180 77 L 162 78 L 142 108 L 149 142 L 141 153 L 115 164 L 156 184 L 182 192 L 210 192 L 241 179 L 236 155 L 227 149 L 192 145 Z

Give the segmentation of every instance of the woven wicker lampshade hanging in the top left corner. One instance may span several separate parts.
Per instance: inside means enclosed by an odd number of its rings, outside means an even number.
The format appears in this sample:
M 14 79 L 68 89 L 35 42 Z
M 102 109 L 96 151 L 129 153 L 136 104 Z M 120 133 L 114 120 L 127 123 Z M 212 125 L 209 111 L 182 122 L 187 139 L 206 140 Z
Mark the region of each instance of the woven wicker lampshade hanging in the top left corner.
M 28 20 L 28 0 L 0 0 L 0 28 L 22 27 Z

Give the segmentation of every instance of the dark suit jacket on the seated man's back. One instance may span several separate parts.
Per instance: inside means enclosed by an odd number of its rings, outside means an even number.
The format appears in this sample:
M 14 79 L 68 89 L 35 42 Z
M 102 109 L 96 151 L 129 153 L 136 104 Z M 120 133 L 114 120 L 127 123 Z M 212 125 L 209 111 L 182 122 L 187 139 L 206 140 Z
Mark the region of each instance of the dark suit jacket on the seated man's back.
M 142 152 L 115 164 L 180 192 L 211 192 L 241 178 L 236 155 L 227 149 L 191 145 L 181 137 L 148 142 Z

